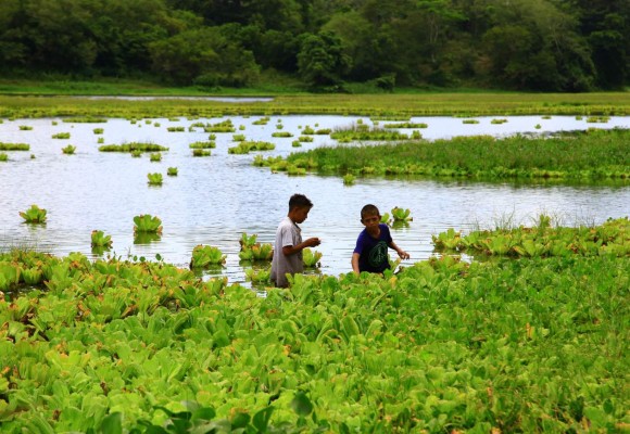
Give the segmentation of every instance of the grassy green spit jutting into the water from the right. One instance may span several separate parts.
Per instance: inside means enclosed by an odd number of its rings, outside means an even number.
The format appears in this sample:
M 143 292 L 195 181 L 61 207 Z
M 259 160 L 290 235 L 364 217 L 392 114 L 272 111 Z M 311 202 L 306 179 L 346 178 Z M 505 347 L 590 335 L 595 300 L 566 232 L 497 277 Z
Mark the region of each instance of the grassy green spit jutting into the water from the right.
M 274 170 L 292 167 L 356 176 L 421 175 L 476 179 L 630 178 L 630 131 L 589 130 L 557 138 L 462 137 L 379 145 L 322 146 L 286 159 L 259 157 Z

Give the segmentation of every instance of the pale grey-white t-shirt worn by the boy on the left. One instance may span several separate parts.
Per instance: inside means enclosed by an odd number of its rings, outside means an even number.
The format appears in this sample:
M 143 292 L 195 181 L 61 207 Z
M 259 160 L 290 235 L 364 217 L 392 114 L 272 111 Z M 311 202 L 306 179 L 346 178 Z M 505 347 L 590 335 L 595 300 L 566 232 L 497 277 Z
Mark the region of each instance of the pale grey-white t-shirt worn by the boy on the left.
M 286 288 L 289 281 L 287 272 L 294 275 L 304 271 L 302 251 L 292 255 L 285 255 L 282 247 L 302 243 L 302 230 L 289 217 L 285 217 L 276 231 L 276 244 L 274 245 L 274 258 L 272 260 L 272 281 L 278 288 Z

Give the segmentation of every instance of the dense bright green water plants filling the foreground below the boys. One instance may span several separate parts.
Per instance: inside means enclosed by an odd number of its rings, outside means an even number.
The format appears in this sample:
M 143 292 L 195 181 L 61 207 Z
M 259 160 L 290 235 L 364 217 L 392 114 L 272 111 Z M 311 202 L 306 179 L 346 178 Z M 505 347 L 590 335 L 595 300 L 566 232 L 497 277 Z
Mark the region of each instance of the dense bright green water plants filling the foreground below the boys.
M 266 297 L 161 261 L 7 253 L 2 432 L 622 431 L 629 228 L 450 231 L 439 247 L 494 258 Z

